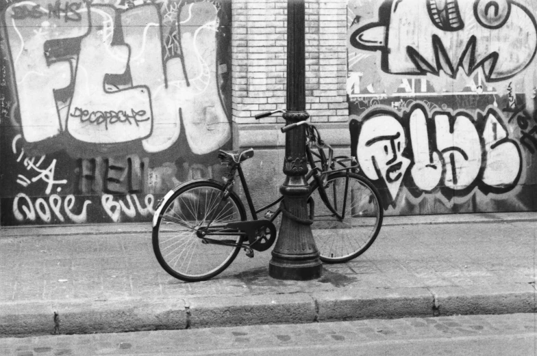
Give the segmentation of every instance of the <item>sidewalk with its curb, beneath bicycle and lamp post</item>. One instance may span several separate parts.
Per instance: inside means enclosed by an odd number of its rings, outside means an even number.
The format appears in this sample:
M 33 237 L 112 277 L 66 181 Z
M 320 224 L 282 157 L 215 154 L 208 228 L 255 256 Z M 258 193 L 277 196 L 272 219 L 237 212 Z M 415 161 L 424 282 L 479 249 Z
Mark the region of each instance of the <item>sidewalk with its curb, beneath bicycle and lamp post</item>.
M 151 226 L 1 228 L 0 336 L 536 311 L 537 213 L 387 217 L 375 244 L 321 279 L 268 277 L 241 252 L 187 284 Z

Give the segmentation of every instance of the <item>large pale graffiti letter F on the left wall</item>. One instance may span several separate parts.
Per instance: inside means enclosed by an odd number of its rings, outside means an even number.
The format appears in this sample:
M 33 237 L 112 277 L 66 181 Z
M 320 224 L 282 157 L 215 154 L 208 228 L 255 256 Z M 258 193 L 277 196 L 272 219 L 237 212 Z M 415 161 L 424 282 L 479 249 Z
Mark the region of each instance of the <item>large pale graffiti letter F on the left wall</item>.
M 41 4 L 28 1 L 37 13 L 49 14 L 53 0 Z M 71 65 L 68 61 L 49 63 L 49 46 L 55 40 L 69 40 L 84 36 L 89 30 L 88 12 L 79 12 L 81 20 L 73 25 L 60 16 L 34 18 L 13 16 L 21 5 L 15 3 L 4 13 L 10 55 L 13 64 L 21 126 L 27 142 L 37 142 L 58 135 L 65 128 L 65 120 L 54 97 L 54 91 L 71 83 Z M 45 49 L 45 51 L 43 51 Z

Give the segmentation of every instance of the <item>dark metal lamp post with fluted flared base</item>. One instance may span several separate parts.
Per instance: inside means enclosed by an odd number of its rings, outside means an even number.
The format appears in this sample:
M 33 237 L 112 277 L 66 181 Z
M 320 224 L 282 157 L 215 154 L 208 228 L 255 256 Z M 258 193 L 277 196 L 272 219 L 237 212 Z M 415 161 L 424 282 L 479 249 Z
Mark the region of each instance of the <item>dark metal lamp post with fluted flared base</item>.
M 307 120 L 305 111 L 305 5 L 304 0 L 287 3 L 287 112 L 286 124 Z M 279 237 L 268 264 L 268 274 L 276 279 L 306 280 L 321 277 L 323 265 L 315 246 L 307 199 L 310 193 L 305 174 L 303 126 L 286 133 L 284 160 L 286 180 L 279 188 L 284 195 Z

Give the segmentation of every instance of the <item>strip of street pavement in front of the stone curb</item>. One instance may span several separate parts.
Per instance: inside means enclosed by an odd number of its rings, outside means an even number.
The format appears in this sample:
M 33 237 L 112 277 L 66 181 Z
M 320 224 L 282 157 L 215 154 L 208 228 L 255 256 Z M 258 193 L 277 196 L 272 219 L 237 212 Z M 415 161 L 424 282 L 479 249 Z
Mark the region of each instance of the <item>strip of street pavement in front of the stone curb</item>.
M 0 339 L 0 353 L 49 355 L 535 355 L 536 314 Z

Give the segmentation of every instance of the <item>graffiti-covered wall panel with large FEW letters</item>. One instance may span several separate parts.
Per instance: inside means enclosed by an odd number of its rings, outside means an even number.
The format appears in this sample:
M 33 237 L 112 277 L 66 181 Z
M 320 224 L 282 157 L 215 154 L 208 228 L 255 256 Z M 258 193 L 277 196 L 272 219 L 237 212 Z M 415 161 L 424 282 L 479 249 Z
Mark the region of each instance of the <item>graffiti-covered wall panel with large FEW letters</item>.
M 231 147 L 230 1 L 1 4 L 2 225 L 149 221 Z

